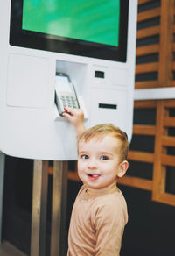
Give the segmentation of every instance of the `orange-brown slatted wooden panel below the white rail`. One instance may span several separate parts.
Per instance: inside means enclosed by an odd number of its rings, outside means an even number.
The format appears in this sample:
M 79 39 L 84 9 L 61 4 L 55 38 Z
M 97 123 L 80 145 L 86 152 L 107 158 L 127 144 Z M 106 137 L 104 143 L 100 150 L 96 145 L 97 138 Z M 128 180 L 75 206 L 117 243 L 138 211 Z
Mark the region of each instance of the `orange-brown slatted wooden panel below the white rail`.
M 175 194 L 166 192 L 167 167 L 175 167 L 175 150 L 173 155 L 167 153 L 167 148 L 175 149 L 175 100 L 137 101 L 136 109 L 156 109 L 156 124 L 134 124 L 133 134 L 153 135 L 155 138 L 154 153 L 130 151 L 129 160 L 153 163 L 152 180 L 126 176 L 119 183 L 152 191 L 152 200 L 175 206 Z M 174 117 L 170 117 L 173 110 Z M 173 128 L 173 135 L 168 134 L 168 129 Z M 175 170 L 175 168 L 174 168 Z M 175 178 L 175 175 L 173 176 Z M 175 182 L 174 182 L 175 183 Z

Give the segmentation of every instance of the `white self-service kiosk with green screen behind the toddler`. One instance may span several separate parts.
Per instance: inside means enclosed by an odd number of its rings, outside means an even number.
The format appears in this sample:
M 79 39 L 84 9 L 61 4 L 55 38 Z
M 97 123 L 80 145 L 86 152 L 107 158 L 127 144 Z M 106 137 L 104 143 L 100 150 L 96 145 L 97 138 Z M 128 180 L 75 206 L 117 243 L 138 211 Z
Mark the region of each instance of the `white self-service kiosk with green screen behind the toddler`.
M 73 84 L 87 127 L 113 123 L 131 139 L 137 0 L 6 0 L 0 14 L 2 152 L 76 159 L 73 125 L 55 100 L 58 74 Z

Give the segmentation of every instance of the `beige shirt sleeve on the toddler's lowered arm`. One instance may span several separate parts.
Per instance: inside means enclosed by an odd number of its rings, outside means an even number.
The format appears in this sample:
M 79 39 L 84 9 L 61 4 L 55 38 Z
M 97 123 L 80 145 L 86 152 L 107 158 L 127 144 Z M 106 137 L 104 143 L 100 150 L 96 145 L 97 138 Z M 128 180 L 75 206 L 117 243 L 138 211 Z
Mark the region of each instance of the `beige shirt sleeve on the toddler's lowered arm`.
M 114 203 L 98 208 L 95 215 L 95 256 L 119 256 L 126 224 L 124 212 Z

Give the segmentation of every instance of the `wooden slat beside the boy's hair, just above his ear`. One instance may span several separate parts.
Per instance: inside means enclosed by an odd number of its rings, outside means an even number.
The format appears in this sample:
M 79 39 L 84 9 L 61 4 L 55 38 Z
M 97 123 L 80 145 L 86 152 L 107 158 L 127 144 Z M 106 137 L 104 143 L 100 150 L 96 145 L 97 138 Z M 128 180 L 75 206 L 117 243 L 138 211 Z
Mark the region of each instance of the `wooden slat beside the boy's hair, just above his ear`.
M 136 160 L 141 162 L 152 163 L 154 161 L 154 153 L 144 153 L 140 151 L 129 151 L 129 160 Z

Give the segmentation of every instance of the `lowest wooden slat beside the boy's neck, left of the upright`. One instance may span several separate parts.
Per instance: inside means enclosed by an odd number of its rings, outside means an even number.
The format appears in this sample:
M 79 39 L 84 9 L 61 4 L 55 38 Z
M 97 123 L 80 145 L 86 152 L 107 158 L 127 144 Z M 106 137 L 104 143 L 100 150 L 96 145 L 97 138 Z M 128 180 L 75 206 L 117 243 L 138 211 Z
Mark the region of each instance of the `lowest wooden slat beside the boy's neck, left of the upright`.
M 141 188 L 146 190 L 152 189 L 152 181 L 137 178 L 137 177 L 130 177 L 127 175 L 123 176 L 123 178 L 120 179 L 118 183 L 126 186 L 130 186 L 130 187 L 134 187 L 134 188 Z

